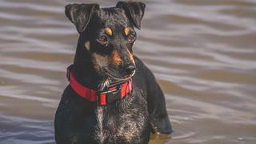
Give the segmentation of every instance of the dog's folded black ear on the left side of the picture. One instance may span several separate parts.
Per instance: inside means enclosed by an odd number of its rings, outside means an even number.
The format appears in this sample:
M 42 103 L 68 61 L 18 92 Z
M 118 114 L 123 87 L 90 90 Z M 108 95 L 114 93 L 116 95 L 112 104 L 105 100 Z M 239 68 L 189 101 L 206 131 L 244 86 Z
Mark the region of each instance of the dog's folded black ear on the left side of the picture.
M 78 33 L 86 30 L 91 16 L 99 9 L 98 4 L 69 4 L 65 6 L 66 17 L 76 26 Z

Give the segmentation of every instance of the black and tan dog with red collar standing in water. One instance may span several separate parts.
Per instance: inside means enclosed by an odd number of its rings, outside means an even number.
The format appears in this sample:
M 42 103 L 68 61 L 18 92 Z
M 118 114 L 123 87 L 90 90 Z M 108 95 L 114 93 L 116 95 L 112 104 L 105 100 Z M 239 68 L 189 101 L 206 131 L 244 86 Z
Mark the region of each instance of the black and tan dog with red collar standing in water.
M 172 132 L 162 90 L 133 55 L 144 9 L 142 2 L 66 6 L 80 35 L 55 115 L 58 144 L 147 143 L 150 132 Z

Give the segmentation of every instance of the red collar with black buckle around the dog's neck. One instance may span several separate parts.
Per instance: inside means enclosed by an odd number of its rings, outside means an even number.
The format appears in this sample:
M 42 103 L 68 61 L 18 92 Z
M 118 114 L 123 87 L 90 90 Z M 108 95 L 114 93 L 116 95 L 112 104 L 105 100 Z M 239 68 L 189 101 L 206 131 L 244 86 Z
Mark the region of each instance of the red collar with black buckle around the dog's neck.
M 72 67 L 73 65 L 69 66 L 66 73 L 72 89 L 82 98 L 86 98 L 86 100 L 90 102 L 97 101 L 99 106 L 106 106 L 108 103 L 121 100 L 133 90 L 131 78 L 125 82 L 118 82 L 114 85 L 107 86 L 106 90 L 92 90 L 86 86 L 83 86 L 77 81 L 77 79 L 74 77 L 74 70 L 72 70 Z

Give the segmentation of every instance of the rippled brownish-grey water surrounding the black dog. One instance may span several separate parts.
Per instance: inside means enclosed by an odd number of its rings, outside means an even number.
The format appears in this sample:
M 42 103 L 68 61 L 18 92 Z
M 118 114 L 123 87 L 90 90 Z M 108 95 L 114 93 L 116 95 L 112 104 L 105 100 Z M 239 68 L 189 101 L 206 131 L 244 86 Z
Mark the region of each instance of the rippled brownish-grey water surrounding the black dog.
M 54 143 L 78 39 L 63 12 L 70 2 L 0 0 L 0 143 Z M 162 86 L 175 130 L 151 143 L 256 143 L 256 1 L 144 2 L 134 52 Z

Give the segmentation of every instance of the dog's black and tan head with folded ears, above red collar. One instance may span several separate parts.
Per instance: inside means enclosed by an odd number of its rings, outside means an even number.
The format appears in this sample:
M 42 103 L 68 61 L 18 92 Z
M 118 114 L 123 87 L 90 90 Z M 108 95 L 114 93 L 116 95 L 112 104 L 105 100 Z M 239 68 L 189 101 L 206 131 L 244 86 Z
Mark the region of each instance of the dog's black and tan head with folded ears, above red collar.
M 142 2 L 118 2 L 110 8 L 100 8 L 98 4 L 67 5 L 66 17 L 80 34 L 79 57 L 90 57 L 98 74 L 114 79 L 132 76 L 132 46 L 137 38 L 134 27 L 140 29 L 144 9 Z

